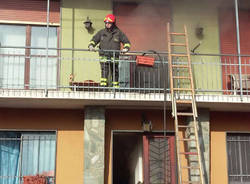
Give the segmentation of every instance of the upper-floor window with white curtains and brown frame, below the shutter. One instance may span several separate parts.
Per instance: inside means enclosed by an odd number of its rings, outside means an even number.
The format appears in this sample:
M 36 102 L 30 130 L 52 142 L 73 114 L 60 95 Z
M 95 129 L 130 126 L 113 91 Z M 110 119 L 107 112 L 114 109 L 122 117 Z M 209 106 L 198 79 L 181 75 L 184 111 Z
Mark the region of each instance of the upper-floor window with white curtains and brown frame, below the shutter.
M 47 28 L 30 25 L 0 25 L 0 88 L 54 89 L 57 86 L 57 50 L 46 48 Z M 57 48 L 57 27 L 49 27 L 49 48 Z

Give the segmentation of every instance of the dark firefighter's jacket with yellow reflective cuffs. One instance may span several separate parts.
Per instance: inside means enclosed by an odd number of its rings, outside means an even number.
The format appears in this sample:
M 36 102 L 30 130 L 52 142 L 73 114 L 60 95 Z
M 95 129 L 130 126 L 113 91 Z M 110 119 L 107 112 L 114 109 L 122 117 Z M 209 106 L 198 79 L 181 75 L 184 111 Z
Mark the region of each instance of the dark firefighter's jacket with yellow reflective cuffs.
M 108 30 L 104 28 L 98 31 L 91 39 L 89 45 L 94 47 L 99 44 L 99 54 L 100 56 L 112 57 L 113 52 L 104 52 L 103 50 L 120 50 L 121 43 L 124 48 L 130 49 L 130 41 L 127 36 L 116 26 Z M 116 52 L 116 57 L 119 53 Z

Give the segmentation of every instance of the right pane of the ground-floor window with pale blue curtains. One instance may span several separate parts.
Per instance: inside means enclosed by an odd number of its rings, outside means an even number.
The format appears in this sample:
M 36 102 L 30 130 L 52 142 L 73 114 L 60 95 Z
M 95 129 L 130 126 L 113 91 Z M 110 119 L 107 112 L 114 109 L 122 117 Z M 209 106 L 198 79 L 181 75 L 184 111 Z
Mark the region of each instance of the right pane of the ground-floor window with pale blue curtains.
M 56 136 L 49 133 L 22 133 L 22 176 L 44 175 L 54 183 Z

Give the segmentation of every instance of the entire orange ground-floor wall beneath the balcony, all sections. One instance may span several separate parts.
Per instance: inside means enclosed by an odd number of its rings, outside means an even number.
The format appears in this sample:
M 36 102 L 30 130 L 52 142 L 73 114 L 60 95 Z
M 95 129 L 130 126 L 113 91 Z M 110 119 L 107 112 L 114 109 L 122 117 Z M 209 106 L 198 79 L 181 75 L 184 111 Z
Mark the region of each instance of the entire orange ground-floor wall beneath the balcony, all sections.
M 112 130 L 141 130 L 141 114 L 163 130 L 161 110 L 107 110 L 105 133 L 105 183 L 112 177 Z M 83 183 L 83 110 L 0 109 L 0 129 L 57 130 L 56 179 L 58 184 Z M 211 184 L 228 183 L 226 132 L 249 132 L 249 113 L 211 112 Z M 167 130 L 173 131 L 167 112 Z

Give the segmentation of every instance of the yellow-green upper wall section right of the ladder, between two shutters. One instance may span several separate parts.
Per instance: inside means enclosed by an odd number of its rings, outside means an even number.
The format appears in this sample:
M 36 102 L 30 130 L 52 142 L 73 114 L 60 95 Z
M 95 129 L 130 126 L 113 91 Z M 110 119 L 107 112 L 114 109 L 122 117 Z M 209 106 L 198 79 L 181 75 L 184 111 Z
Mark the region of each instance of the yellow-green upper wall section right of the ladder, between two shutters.
M 219 4 L 219 3 L 218 3 Z M 219 54 L 219 22 L 218 4 L 211 0 L 173 0 L 172 1 L 172 31 L 183 32 L 187 26 L 189 47 L 193 49 L 199 42 L 201 45 L 195 51 L 203 54 Z M 202 27 L 204 36 L 196 35 L 196 28 Z M 176 39 L 176 42 L 183 42 Z M 176 52 L 185 52 L 176 49 Z M 221 66 L 217 56 L 192 56 L 194 66 L 194 82 L 197 88 L 213 90 L 221 89 Z

